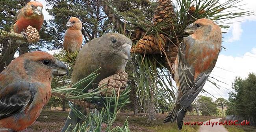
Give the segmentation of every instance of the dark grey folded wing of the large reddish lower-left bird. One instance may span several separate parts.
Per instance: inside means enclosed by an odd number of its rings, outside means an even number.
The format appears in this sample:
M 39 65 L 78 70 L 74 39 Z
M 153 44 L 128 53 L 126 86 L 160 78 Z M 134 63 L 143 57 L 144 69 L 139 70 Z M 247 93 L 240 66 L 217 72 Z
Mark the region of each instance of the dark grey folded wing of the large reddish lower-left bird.
M 0 88 L 0 119 L 24 112 L 33 101 L 35 93 L 34 85 L 26 82 L 18 82 Z

